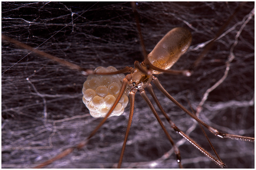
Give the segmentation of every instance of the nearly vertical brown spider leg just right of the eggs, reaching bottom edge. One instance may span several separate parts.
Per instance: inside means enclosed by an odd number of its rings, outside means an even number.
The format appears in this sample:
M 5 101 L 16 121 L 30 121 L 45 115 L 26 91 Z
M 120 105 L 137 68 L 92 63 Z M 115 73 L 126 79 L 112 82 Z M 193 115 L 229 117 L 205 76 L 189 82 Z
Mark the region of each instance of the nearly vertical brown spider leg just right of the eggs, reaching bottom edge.
M 134 110 L 134 100 L 135 100 L 135 93 L 136 93 L 136 91 L 137 91 L 136 89 L 132 89 L 132 91 L 129 93 L 129 97 L 130 97 L 129 121 L 128 121 L 127 129 L 126 129 L 126 135 L 124 137 L 124 143 L 123 143 L 123 147 L 122 147 L 122 152 L 121 152 L 121 155 L 120 155 L 120 159 L 119 159 L 117 168 L 121 168 L 121 165 L 122 165 L 124 149 L 126 147 L 126 142 L 127 142 L 127 138 L 128 138 L 129 131 L 130 131 L 130 126 L 132 124 L 132 117 L 133 117 L 133 110 Z

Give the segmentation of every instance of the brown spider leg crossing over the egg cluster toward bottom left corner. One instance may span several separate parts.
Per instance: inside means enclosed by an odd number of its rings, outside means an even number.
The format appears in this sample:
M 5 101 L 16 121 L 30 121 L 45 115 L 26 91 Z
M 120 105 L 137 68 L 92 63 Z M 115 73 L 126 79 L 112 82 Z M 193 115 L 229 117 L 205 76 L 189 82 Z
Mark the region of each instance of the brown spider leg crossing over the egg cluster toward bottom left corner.
M 116 101 L 114 102 L 113 106 L 111 107 L 111 109 L 108 111 L 106 117 L 100 122 L 100 124 L 91 132 L 91 134 L 82 142 L 78 143 L 77 145 L 67 148 L 65 149 L 63 152 L 61 152 L 60 154 L 58 154 L 57 156 L 55 156 L 54 158 L 47 160 L 46 162 L 43 162 L 39 165 L 37 165 L 35 168 L 43 168 L 46 165 L 49 165 L 51 163 L 53 163 L 55 160 L 61 159 L 63 157 L 65 157 L 66 155 L 72 153 L 74 151 L 74 149 L 81 149 L 82 147 L 84 147 L 85 145 L 87 145 L 88 141 L 90 140 L 90 138 L 92 136 L 94 136 L 96 134 L 96 132 L 98 131 L 98 129 L 100 129 L 100 127 L 105 123 L 105 121 L 107 120 L 108 116 L 112 113 L 112 111 L 114 110 L 114 108 L 116 107 L 117 103 L 119 102 L 120 98 L 123 95 L 123 92 L 126 88 L 126 85 L 128 83 L 128 81 L 130 81 L 130 77 L 129 75 L 127 75 L 124 79 L 123 79 L 123 83 L 122 83 L 122 87 L 120 90 L 119 95 L 116 98 Z

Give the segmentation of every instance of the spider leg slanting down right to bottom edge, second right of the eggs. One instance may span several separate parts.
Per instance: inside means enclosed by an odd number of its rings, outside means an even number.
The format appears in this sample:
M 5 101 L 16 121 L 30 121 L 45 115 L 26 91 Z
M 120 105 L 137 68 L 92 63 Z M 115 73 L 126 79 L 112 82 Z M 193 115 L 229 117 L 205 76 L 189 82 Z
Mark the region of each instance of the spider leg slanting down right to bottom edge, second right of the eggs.
M 150 102 L 148 96 L 146 95 L 144 90 L 140 90 L 140 95 L 143 97 L 143 99 L 147 102 L 148 106 L 150 107 L 151 111 L 153 112 L 153 114 L 155 115 L 156 119 L 158 120 L 158 123 L 161 125 L 162 129 L 165 132 L 165 135 L 167 136 L 167 138 L 169 139 L 169 141 L 171 142 L 172 147 L 174 148 L 174 153 L 176 154 L 176 159 L 178 162 L 178 165 L 180 168 L 182 167 L 181 164 L 181 155 L 180 155 L 180 150 L 178 149 L 178 147 L 175 145 L 174 141 L 172 140 L 171 136 L 169 135 L 169 133 L 167 132 L 166 128 L 164 127 L 164 125 L 162 124 L 161 119 L 159 118 L 158 114 L 155 111 L 155 108 L 153 106 L 153 104 Z

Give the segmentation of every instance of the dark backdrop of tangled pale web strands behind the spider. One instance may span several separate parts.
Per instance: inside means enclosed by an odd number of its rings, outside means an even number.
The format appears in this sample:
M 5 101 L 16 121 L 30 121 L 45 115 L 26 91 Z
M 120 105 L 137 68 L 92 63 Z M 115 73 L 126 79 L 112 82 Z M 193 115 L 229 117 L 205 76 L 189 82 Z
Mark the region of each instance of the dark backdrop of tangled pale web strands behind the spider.
M 36 47 L 63 28 L 72 17 L 94 4 L 85 3 L 79 7 L 60 2 L 3 2 L 2 34 Z M 171 28 L 191 27 L 192 46 L 172 68 L 190 67 L 203 50 L 199 45 L 212 39 L 237 5 L 235 2 L 138 3 L 146 51 L 150 52 Z M 242 25 L 235 27 L 235 24 L 242 22 L 253 6 L 252 2 L 246 4 L 236 15 L 227 28 L 229 32 L 215 43 L 191 77 L 166 74 L 158 77 L 165 89 L 185 108 L 190 108 L 188 100 L 196 108 L 207 89 L 223 76 L 230 46 Z M 22 13 L 28 11 L 25 9 L 30 9 L 31 14 Z M 15 15 L 17 10 L 18 16 Z M 158 15 L 160 17 L 156 19 Z M 254 136 L 253 29 L 253 21 L 246 24 L 235 46 L 236 58 L 231 63 L 228 77 L 209 93 L 200 114 L 207 124 L 230 134 Z M 135 60 L 143 60 L 138 57 L 142 55 L 133 13 L 130 4 L 125 2 L 96 4 L 59 35 L 47 40 L 40 49 L 86 68 L 111 65 L 123 68 L 132 66 Z M 2 72 L 27 53 L 2 42 Z M 85 79 L 79 72 L 38 55 L 27 56 L 2 74 L 2 168 L 31 168 L 30 165 L 54 157 L 90 134 L 101 119 L 92 118 L 81 101 Z M 155 93 L 175 124 L 210 151 L 197 123 L 161 92 L 155 90 Z M 122 167 L 178 168 L 164 132 L 146 103 L 139 96 L 136 98 Z M 47 168 L 112 167 L 118 162 L 121 152 L 128 110 L 119 117 L 107 119 L 81 151 L 73 152 Z M 216 168 L 213 162 L 173 132 L 166 122 L 165 125 L 181 151 L 184 168 Z M 229 168 L 254 168 L 252 143 L 208 135 Z

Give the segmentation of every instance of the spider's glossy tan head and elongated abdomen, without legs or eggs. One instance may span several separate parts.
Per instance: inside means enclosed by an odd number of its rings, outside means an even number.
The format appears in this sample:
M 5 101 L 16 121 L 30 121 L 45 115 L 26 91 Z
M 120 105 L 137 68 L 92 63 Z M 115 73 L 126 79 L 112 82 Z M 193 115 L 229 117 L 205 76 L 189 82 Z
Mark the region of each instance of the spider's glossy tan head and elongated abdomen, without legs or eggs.
M 191 41 L 192 36 L 189 30 L 173 28 L 156 44 L 149 53 L 148 60 L 153 66 L 167 70 L 187 51 Z M 146 70 L 145 61 L 140 66 Z M 161 72 L 153 70 L 152 74 L 161 74 Z M 129 85 L 140 90 L 153 80 L 151 75 L 143 74 L 138 68 L 135 68 L 131 77 Z

